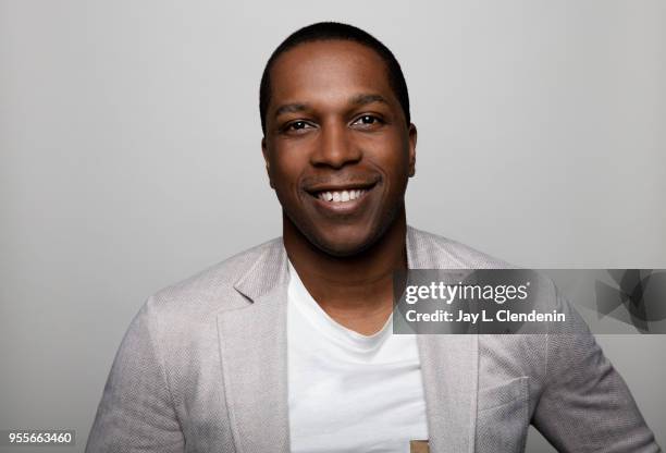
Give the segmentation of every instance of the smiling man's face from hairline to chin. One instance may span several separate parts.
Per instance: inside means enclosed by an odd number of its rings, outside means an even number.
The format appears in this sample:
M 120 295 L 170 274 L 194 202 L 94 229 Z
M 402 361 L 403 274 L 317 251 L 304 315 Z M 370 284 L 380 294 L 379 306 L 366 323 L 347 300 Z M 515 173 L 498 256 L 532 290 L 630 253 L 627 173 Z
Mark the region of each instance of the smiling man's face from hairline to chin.
M 334 256 L 379 240 L 402 212 L 416 147 L 380 56 L 343 40 L 288 50 L 271 70 L 266 120 L 263 156 L 287 220 Z

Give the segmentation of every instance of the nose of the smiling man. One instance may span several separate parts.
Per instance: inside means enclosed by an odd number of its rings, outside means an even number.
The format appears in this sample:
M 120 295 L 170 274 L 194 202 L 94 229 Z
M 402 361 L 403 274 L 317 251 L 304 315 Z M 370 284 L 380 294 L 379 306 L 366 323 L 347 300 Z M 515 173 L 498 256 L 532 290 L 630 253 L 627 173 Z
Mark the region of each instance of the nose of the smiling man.
M 344 124 L 325 124 L 321 126 L 317 149 L 310 162 L 313 166 L 326 166 L 340 169 L 348 163 L 358 162 L 362 151 L 353 139 L 353 131 Z

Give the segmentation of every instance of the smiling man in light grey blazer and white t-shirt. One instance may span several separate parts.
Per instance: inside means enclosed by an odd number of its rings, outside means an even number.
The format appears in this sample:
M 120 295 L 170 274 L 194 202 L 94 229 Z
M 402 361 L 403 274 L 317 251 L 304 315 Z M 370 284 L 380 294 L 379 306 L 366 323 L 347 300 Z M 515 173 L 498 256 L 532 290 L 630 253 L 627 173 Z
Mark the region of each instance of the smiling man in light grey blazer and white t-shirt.
M 417 130 L 387 48 L 296 32 L 260 112 L 283 237 L 147 301 L 88 452 L 520 452 L 530 423 L 560 451 L 658 451 L 587 331 L 391 334 L 394 271 L 503 264 L 406 225 Z

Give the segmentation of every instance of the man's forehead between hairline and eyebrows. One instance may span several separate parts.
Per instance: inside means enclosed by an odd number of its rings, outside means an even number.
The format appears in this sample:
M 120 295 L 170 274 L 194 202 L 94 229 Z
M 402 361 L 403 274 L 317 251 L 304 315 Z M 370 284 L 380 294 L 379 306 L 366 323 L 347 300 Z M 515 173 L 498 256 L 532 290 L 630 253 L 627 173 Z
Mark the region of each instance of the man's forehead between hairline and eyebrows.
M 373 49 L 346 40 L 306 42 L 273 63 L 269 110 L 286 101 L 348 99 L 358 94 L 379 94 L 397 103 L 386 64 Z

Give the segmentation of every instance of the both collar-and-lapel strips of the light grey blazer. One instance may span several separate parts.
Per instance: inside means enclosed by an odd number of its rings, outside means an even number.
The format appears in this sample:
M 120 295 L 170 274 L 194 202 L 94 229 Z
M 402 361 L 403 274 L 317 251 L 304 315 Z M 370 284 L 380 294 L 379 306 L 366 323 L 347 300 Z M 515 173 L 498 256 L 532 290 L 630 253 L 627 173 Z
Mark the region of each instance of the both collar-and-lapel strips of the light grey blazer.
M 424 233 L 407 228 L 409 269 L 451 262 L 447 256 L 433 259 L 431 242 Z M 251 304 L 218 314 L 224 393 L 239 453 L 289 451 L 287 284 L 286 252 L 282 240 L 275 240 L 234 284 Z M 417 342 L 430 451 L 473 452 L 478 336 L 421 334 Z

